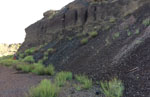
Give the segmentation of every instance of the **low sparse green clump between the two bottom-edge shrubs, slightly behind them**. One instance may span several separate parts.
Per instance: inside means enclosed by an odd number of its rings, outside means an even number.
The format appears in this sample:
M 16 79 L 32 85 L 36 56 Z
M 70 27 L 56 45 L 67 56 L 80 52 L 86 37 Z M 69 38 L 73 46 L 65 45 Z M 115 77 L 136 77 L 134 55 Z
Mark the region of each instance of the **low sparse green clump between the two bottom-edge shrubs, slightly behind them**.
M 89 89 L 92 87 L 92 79 L 89 79 L 85 75 L 75 75 L 75 79 L 82 84 L 83 89 Z

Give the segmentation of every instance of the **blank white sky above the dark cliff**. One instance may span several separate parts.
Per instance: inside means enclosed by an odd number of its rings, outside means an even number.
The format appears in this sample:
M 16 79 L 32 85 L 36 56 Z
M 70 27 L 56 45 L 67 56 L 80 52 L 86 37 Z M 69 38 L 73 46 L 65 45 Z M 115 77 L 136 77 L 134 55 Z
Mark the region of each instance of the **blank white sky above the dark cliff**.
M 0 43 L 22 43 L 24 29 L 74 0 L 0 0 Z

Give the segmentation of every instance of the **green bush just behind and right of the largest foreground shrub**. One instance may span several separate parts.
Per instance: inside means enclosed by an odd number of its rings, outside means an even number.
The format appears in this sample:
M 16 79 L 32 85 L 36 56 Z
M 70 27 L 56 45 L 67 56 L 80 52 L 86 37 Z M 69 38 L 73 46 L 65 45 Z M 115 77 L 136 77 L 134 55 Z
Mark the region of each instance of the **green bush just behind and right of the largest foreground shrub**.
M 59 72 L 56 74 L 55 83 L 59 87 L 64 86 L 67 80 L 72 80 L 72 73 L 71 72 Z

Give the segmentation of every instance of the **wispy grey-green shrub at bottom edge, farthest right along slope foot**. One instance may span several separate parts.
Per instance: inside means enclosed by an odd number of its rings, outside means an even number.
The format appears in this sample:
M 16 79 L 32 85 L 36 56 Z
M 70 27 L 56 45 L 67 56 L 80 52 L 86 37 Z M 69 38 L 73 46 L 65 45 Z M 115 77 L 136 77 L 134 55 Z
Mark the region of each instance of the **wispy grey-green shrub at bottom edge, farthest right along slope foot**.
M 122 97 L 124 86 L 120 80 L 114 78 L 111 81 L 100 82 L 101 92 L 104 93 L 106 97 Z

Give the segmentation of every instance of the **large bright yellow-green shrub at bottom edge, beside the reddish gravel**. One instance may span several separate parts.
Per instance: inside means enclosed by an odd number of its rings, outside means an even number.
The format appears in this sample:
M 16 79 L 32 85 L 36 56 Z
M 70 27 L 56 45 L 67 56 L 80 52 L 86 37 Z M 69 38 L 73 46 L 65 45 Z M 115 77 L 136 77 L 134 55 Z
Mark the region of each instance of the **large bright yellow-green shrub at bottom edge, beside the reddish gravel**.
M 51 81 L 42 80 L 39 85 L 29 90 L 28 97 L 57 97 L 59 88 Z

